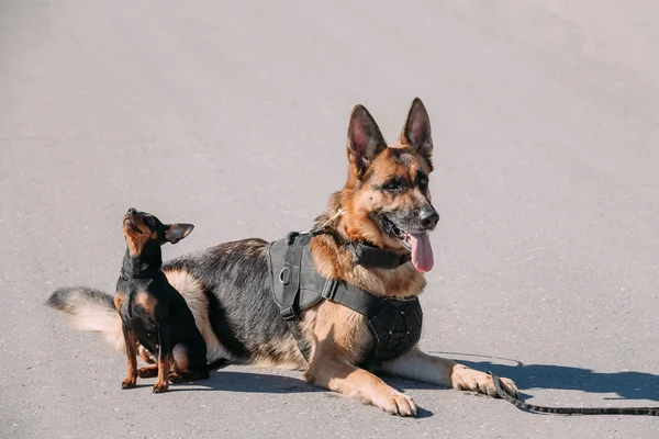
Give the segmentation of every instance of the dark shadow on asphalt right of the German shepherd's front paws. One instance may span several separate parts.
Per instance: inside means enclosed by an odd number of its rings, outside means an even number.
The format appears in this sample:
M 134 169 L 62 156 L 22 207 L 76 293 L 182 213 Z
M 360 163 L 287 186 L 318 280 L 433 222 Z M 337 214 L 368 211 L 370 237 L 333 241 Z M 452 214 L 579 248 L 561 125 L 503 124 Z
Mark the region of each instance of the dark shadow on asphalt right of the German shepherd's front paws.
M 511 360 L 496 358 L 493 358 L 493 360 L 496 362 L 466 361 L 463 359 L 456 361 L 472 369 L 492 371 L 499 376 L 510 378 L 521 391 L 527 389 L 556 389 L 617 395 L 604 397 L 604 399 L 659 401 L 659 375 L 651 373 L 634 371 L 594 372 L 591 369 L 569 365 L 524 364 L 516 361 L 513 361 L 516 364 L 502 364 L 502 362 L 506 363 Z

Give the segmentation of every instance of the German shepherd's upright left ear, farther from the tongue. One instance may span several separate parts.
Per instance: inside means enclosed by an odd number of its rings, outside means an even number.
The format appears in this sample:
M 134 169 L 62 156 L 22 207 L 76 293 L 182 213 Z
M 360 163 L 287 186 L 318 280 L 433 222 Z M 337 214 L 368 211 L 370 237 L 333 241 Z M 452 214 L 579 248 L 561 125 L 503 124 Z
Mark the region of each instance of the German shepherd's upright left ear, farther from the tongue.
M 373 158 L 387 149 L 378 124 L 364 105 L 355 105 L 348 125 L 348 160 L 357 177 L 364 176 Z

